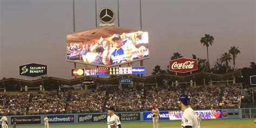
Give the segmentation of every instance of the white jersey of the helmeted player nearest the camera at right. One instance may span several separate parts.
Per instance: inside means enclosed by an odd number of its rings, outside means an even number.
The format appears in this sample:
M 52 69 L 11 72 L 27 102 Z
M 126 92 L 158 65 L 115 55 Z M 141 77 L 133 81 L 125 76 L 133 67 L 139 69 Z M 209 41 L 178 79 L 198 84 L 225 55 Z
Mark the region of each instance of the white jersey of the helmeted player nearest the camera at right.
M 181 126 L 192 126 L 193 128 L 200 128 L 199 118 L 196 116 L 196 113 L 193 109 L 191 109 L 191 107 L 187 107 L 187 109 L 184 110 L 181 118 Z

